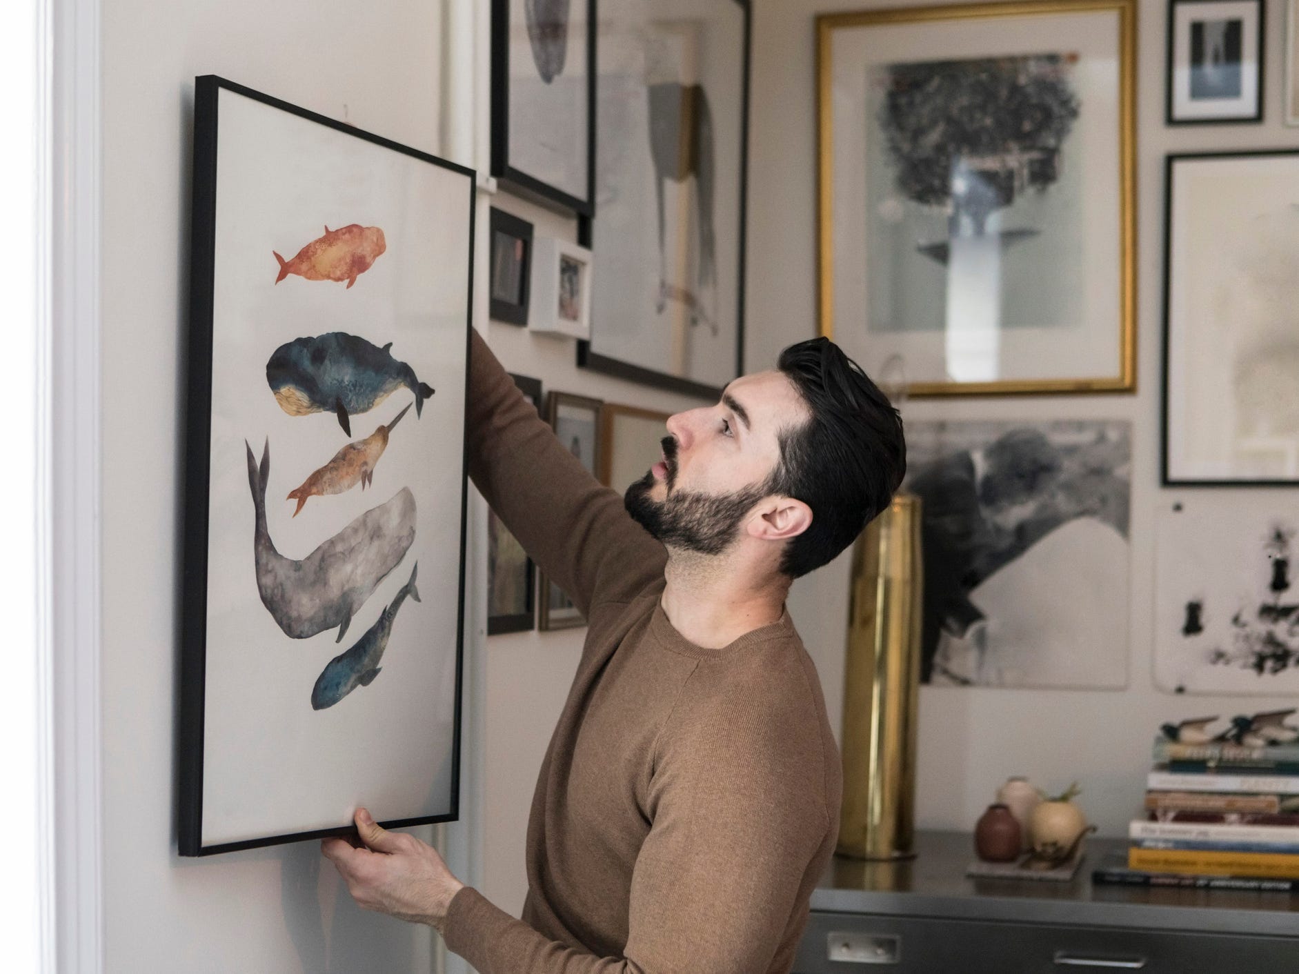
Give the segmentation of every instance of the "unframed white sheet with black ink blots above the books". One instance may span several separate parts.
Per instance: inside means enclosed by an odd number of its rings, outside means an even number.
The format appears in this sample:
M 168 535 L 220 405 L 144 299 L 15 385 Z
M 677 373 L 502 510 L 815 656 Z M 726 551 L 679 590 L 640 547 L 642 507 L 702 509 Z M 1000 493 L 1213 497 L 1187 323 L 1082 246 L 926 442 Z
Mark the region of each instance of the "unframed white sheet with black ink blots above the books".
M 1155 683 L 1173 693 L 1299 693 L 1299 504 L 1273 492 L 1163 504 Z

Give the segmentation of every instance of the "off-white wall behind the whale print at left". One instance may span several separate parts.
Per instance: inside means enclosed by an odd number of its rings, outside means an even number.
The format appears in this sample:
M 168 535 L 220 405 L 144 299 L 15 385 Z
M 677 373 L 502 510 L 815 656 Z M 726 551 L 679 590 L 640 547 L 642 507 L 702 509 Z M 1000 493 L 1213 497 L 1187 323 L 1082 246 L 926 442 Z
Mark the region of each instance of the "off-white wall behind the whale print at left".
M 103 0 L 104 910 L 114 974 L 430 970 L 431 931 L 359 910 L 318 843 L 178 858 L 174 783 L 194 75 L 335 118 L 346 110 L 435 152 L 440 10 L 436 0 Z

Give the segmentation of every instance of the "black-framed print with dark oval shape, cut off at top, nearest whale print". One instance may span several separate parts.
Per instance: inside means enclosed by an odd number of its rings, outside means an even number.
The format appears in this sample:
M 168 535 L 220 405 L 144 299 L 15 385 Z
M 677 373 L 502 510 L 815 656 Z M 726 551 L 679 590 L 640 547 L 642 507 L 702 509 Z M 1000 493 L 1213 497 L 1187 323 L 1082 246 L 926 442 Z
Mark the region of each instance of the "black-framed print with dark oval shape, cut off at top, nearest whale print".
M 595 0 L 492 0 L 491 171 L 591 216 Z

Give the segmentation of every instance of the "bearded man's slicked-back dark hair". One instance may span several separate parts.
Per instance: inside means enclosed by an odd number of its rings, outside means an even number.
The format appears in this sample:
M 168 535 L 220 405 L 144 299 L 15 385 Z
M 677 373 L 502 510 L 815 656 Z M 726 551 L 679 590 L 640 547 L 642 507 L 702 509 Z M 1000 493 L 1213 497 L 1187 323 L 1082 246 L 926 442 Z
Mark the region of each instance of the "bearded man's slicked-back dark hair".
M 790 345 L 778 368 L 811 413 L 781 432 L 768 491 L 812 508 L 812 525 L 781 558 L 781 571 L 799 578 L 831 561 L 889 506 L 907 473 L 907 443 L 889 397 L 827 338 Z

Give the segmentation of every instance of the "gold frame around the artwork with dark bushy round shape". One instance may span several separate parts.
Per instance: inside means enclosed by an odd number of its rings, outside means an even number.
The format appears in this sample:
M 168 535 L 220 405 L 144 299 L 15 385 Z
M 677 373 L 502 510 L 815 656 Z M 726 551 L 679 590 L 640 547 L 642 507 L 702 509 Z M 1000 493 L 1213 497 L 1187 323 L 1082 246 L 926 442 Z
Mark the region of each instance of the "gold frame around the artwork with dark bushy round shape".
M 1003 382 L 917 382 L 912 396 L 1042 395 L 1137 391 L 1137 0 L 1012 0 L 821 14 L 817 34 L 817 322 L 834 338 L 834 213 L 830 42 L 835 30 L 892 23 L 933 23 L 989 17 L 1112 10 L 1118 14 L 1120 362 L 1118 375 Z

